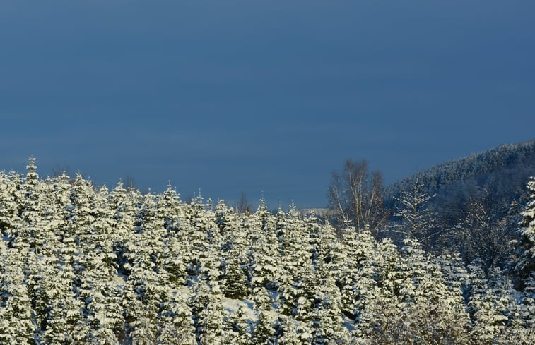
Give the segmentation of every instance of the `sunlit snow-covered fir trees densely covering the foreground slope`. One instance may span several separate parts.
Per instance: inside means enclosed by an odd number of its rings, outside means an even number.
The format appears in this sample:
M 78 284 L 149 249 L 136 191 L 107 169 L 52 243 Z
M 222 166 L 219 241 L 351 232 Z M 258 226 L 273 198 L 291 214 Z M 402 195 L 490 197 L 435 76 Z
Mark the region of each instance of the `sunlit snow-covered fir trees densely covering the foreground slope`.
M 295 207 L 27 169 L 0 172 L 0 344 L 534 344 L 535 178 L 517 261 L 489 268 Z

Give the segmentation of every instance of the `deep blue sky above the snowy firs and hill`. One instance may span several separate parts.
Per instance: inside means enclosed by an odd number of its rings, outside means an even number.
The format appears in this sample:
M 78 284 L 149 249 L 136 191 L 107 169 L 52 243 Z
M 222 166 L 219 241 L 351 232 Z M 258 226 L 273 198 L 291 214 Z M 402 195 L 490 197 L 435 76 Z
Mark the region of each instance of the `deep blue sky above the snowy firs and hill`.
M 535 1 L 0 4 L 0 170 L 327 205 L 535 138 Z

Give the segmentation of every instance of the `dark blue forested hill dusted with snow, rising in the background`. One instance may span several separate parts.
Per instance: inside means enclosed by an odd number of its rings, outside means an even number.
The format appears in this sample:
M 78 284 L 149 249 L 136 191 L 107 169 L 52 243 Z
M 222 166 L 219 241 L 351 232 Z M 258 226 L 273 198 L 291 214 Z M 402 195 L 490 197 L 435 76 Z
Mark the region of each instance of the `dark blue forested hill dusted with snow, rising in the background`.
M 454 216 L 457 208 L 470 198 L 480 198 L 482 194 L 505 212 L 512 200 L 525 195 L 524 186 L 529 176 L 534 174 L 535 140 L 500 145 L 486 152 L 435 165 L 393 183 L 385 190 L 385 201 L 392 206 L 396 197 L 404 190 L 410 190 L 418 181 L 423 185 L 424 193 L 436 194 L 431 202 L 435 206 L 433 208 L 446 207 L 450 215 Z

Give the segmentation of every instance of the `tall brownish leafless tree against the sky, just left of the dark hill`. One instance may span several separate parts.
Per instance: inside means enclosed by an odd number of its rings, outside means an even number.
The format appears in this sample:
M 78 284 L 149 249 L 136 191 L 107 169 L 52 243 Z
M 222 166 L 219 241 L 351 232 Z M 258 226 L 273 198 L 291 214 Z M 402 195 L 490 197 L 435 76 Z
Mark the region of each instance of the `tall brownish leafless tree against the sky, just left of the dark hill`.
M 368 171 L 368 162 L 346 160 L 341 171 L 334 171 L 329 186 L 329 206 L 339 220 L 357 229 L 377 231 L 387 221 L 384 207 L 382 174 Z

